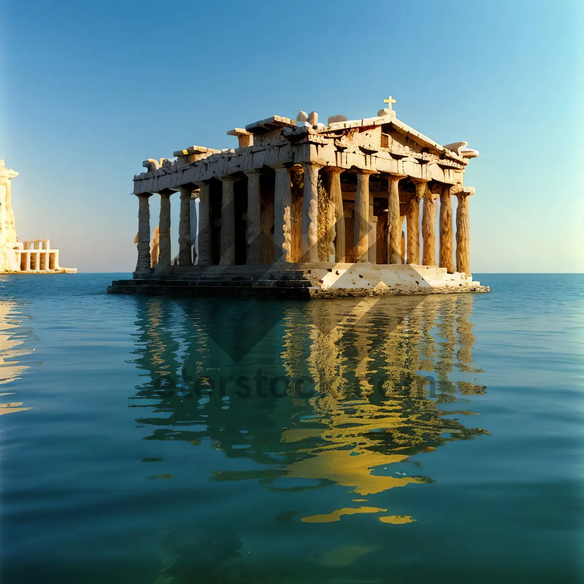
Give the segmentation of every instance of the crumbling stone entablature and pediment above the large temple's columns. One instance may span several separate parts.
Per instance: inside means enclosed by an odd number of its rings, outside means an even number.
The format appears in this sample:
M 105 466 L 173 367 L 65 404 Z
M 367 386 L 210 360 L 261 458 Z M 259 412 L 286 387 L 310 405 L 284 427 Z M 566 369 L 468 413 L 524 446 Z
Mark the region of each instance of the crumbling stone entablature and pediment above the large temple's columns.
M 178 190 L 187 183 L 221 179 L 274 164 L 315 163 L 335 168 L 403 174 L 445 185 L 463 182 L 469 158 L 478 152 L 458 142 L 451 151 L 392 116 L 336 122 L 322 127 L 297 125 L 272 116 L 246 126 L 253 144 L 213 150 L 192 146 L 173 152 L 176 161 L 150 160 L 148 172 L 134 176 L 134 194 Z M 228 132 L 238 135 L 238 128 Z M 241 130 L 239 130 L 241 132 Z M 241 141 L 241 137 L 240 137 Z

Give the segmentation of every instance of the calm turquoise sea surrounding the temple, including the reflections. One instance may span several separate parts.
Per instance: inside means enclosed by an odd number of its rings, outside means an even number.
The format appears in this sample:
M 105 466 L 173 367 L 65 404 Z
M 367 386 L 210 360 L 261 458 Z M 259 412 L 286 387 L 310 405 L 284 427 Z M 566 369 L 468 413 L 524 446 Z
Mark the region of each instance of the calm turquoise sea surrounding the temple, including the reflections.
M 580 581 L 584 276 L 255 303 L 121 275 L 0 277 L 2 582 Z

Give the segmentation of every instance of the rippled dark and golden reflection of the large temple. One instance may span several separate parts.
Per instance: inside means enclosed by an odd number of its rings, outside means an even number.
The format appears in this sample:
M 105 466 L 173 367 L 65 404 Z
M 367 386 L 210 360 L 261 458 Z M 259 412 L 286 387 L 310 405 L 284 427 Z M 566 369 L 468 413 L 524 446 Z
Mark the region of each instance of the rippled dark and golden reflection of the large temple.
M 241 319 L 234 302 L 217 311 L 215 300 L 153 298 L 138 309 L 136 363 L 147 379 L 132 405 L 154 406 L 137 419 L 152 426 L 150 439 L 207 439 L 265 466 L 211 479 L 277 488 L 279 477 L 312 478 L 366 496 L 431 481 L 371 468 L 485 432 L 472 423 L 478 412 L 442 406 L 484 392 L 474 381 L 470 295 L 258 303 Z M 258 322 L 266 311 L 277 315 L 271 328 Z M 238 343 L 248 352 L 235 363 Z

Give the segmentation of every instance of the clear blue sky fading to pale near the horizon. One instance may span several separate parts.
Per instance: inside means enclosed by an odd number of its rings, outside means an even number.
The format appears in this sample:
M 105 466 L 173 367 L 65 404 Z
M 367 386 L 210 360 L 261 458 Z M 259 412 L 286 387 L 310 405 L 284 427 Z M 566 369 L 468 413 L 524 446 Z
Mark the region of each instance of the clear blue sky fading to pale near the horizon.
M 583 8 L 7 0 L 0 158 L 20 173 L 19 238 L 50 238 L 80 271 L 131 271 L 142 160 L 234 147 L 225 131 L 273 114 L 373 116 L 391 93 L 409 126 L 481 152 L 465 175 L 473 272 L 582 272 Z

